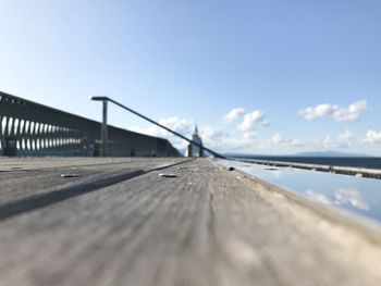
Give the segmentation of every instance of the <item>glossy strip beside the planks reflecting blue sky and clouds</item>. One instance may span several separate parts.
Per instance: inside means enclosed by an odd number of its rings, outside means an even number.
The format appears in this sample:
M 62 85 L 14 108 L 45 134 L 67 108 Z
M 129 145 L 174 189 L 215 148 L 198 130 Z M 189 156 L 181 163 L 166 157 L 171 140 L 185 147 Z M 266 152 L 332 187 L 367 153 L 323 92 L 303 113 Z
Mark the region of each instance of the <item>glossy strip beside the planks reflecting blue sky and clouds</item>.
M 228 160 L 220 162 L 319 203 L 345 209 L 381 222 L 381 179 L 293 167 L 269 167 Z

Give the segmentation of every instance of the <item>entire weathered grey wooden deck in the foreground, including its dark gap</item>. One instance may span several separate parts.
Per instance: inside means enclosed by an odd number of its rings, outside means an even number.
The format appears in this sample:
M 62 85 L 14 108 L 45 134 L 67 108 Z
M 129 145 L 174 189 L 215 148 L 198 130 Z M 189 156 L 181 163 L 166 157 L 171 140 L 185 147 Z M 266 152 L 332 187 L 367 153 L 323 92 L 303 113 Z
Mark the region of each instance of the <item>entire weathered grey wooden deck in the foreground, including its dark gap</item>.
M 381 285 L 381 240 L 209 159 L 0 170 L 0 285 Z

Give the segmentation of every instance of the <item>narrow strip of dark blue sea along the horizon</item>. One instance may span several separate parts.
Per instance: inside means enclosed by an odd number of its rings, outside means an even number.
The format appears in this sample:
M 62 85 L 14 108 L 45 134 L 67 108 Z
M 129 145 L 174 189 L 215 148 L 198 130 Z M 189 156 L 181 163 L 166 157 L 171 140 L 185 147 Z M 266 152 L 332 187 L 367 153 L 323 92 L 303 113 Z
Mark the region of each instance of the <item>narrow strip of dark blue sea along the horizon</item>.
M 228 154 L 239 159 L 256 159 L 293 163 L 322 164 L 335 166 L 354 166 L 381 170 L 381 157 L 299 157 L 299 156 L 256 156 Z

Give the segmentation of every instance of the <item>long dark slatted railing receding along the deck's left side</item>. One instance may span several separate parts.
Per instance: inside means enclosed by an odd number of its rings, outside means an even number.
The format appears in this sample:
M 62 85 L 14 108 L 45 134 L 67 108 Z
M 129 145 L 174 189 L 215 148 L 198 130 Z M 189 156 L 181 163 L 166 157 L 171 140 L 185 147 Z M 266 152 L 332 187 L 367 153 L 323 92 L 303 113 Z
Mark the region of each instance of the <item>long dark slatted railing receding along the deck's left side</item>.
M 101 124 L 0 91 L 0 156 L 99 156 Z M 108 126 L 109 156 L 180 156 L 163 138 Z

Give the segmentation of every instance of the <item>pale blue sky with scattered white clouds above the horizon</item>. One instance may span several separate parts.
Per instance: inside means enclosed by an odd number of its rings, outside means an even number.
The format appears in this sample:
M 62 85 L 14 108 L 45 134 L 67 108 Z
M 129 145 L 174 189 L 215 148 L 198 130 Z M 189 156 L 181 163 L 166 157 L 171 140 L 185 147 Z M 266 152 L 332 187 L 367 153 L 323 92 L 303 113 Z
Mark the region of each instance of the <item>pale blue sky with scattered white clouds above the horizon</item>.
M 379 0 L 0 0 L 0 90 L 217 151 L 381 156 Z M 228 115 L 230 114 L 230 115 Z M 110 105 L 110 124 L 168 137 Z

